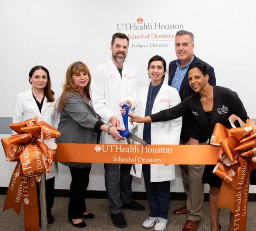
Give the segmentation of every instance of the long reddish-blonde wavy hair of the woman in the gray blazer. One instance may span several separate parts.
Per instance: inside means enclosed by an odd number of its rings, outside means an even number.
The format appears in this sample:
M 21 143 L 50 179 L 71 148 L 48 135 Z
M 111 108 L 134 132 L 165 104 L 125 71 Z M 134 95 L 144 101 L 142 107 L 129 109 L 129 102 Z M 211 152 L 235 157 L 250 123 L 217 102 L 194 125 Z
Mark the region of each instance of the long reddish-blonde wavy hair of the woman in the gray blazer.
M 72 79 L 73 75 L 80 73 L 80 72 L 84 72 L 84 73 L 88 74 L 89 82 L 86 85 L 86 87 L 84 88 L 84 93 L 90 99 L 90 93 L 89 93 L 90 83 L 91 83 L 90 71 L 89 71 L 88 67 L 82 61 L 73 62 L 69 65 L 67 73 L 66 73 L 65 83 L 62 87 L 63 91 L 62 91 L 61 97 L 59 99 L 57 111 L 61 111 L 65 108 L 65 104 L 66 104 L 65 96 L 67 93 L 73 93 L 73 94 L 75 94 L 77 96 L 81 96 L 81 98 L 83 98 L 83 95 L 81 95 L 81 92 L 78 90 L 78 86 L 74 84 L 74 81 Z

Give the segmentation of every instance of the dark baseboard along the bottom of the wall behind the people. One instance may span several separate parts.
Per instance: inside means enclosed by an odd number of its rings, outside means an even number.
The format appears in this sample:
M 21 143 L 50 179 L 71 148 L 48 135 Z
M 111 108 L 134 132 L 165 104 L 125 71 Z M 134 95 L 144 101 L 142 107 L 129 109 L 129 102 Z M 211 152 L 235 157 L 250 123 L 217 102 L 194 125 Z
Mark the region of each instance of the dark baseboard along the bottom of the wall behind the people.
M 8 187 L 0 187 L 0 195 L 6 195 Z M 69 197 L 69 189 L 55 189 L 54 196 Z M 106 191 L 87 190 L 87 198 L 107 199 Z M 133 199 L 147 200 L 145 192 L 133 192 Z M 186 201 L 185 193 L 170 193 L 171 201 Z M 209 201 L 209 193 L 205 193 L 204 201 Z M 248 201 L 256 201 L 256 193 L 250 193 Z

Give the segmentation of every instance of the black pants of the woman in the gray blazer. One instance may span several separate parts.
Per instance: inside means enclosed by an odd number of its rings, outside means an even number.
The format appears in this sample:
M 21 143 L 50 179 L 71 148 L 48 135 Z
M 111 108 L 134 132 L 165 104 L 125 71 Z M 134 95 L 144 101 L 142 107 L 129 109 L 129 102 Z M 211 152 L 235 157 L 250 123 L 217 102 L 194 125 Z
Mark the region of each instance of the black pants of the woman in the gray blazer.
M 69 167 L 71 183 L 69 191 L 69 219 L 79 219 L 87 211 L 85 198 L 89 183 L 90 168 Z

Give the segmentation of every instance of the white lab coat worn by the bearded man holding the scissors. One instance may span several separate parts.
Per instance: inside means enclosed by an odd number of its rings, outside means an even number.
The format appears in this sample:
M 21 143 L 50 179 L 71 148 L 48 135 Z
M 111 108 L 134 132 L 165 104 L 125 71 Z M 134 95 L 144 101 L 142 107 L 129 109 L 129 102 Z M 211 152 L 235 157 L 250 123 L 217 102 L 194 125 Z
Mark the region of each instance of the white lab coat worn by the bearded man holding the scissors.
M 124 128 L 119 103 L 130 100 L 131 109 L 133 109 L 137 103 L 138 85 L 138 71 L 136 67 L 124 63 L 122 79 L 112 59 L 96 67 L 90 84 L 90 96 L 93 108 L 100 116 L 100 119 L 107 125 L 110 125 L 110 117 L 116 116 L 120 120 L 120 128 Z M 131 127 L 129 125 L 129 129 Z M 101 134 L 101 143 L 127 144 L 127 141 L 125 139 L 119 142 L 104 132 Z

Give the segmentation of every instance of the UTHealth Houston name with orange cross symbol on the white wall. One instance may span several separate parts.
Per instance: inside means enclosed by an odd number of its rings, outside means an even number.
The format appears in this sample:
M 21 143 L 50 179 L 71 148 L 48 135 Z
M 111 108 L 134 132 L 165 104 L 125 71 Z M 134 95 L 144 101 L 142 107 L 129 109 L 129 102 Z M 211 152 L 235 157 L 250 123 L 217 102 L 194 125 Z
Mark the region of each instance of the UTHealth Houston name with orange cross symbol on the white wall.
M 145 22 L 144 18 L 138 17 L 134 23 L 118 23 L 118 30 L 181 30 L 183 24 L 163 24 L 161 22 Z

